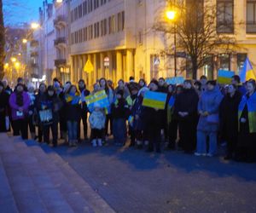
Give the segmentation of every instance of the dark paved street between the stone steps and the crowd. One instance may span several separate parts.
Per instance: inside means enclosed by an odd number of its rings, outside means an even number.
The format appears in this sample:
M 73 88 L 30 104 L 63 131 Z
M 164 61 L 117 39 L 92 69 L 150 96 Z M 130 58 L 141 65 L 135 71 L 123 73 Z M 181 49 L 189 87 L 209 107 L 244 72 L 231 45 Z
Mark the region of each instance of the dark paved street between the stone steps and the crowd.
M 117 212 L 256 212 L 256 165 L 134 148 L 55 149 Z

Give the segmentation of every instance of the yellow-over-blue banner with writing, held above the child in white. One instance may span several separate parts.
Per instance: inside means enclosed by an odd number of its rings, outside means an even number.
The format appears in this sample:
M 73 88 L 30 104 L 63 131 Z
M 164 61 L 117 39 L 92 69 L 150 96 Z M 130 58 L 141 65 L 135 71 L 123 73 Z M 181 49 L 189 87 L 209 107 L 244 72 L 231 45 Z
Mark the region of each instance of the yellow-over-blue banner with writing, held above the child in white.
M 108 101 L 108 95 L 105 90 L 96 92 L 94 95 L 88 95 L 85 97 L 85 102 L 90 112 L 93 111 L 94 104 L 99 104 L 102 108 L 108 108 L 110 106 Z

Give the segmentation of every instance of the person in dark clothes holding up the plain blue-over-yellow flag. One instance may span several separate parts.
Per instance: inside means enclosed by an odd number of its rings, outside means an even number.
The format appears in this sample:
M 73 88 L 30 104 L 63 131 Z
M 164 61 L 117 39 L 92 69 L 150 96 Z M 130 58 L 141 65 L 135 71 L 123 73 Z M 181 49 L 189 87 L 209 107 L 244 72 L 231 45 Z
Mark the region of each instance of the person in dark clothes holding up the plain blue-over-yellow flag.
M 148 88 L 151 91 L 158 92 L 158 81 L 153 79 Z M 162 110 L 157 108 L 145 107 L 143 111 L 143 120 L 145 122 L 145 131 L 148 132 L 148 149 L 147 152 L 160 153 L 161 127 L 162 127 Z

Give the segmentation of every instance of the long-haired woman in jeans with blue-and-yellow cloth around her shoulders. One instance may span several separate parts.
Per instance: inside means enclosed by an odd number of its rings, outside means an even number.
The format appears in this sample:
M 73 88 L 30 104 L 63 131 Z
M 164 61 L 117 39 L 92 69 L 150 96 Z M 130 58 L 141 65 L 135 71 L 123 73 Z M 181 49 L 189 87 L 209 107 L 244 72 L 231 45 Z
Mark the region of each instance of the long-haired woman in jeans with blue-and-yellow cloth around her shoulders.
M 67 90 L 66 95 L 67 135 L 70 147 L 76 147 L 78 143 L 78 120 L 80 118 L 80 94 L 75 85 Z

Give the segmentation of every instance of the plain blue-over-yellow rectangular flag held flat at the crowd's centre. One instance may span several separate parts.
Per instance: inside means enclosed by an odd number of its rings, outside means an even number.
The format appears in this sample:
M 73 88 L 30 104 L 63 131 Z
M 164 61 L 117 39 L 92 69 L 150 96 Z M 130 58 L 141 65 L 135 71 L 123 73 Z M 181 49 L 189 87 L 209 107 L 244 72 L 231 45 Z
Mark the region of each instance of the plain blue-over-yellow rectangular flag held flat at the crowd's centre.
M 160 92 L 147 91 L 143 98 L 143 106 L 165 109 L 167 94 Z

